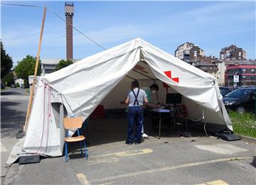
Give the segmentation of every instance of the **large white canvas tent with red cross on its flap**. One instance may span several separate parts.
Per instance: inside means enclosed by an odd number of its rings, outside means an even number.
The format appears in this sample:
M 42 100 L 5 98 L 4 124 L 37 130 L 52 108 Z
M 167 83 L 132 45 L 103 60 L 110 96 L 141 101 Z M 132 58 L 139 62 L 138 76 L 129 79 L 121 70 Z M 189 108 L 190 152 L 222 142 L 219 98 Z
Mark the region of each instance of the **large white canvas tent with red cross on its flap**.
M 140 73 L 138 62 L 151 70 Z M 129 78 L 159 79 L 182 94 L 189 118 L 233 130 L 215 77 L 137 38 L 41 77 L 22 152 L 62 155 L 63 116 L 85 120 L 119 82 L 130 83 Z M 120 96 L 124 98 L 125 90 Z

